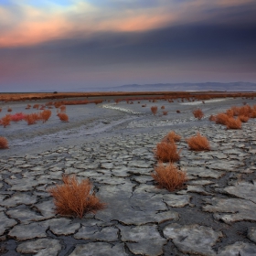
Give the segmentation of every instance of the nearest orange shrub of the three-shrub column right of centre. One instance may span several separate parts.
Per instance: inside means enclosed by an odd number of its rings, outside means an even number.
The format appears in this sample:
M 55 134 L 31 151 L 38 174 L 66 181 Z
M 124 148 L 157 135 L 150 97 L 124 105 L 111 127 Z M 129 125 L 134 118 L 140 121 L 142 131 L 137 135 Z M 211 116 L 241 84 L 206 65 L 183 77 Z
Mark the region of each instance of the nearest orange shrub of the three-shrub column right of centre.
M 155 166 L 155 173 L 151 176 L 157 182 L 157 187 L 166 188 L 169 191 L 174 191 L 177 188 L 183 188 L 187 181 L 186 172 L 180 171 L 175 165 L 163 165 L 162 163 Z

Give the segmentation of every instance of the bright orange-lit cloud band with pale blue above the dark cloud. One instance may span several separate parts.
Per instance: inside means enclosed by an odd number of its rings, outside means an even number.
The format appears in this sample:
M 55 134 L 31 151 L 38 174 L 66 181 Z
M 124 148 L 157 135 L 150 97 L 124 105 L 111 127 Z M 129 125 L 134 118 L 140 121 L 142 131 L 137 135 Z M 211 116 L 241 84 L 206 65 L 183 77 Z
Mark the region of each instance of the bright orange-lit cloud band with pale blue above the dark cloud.
M 0 5 L 0 47 L 35 45 L 74 34 L 93 37 L 104 31 L 144 32 L 200 22 L 244 23 L 255 21 L 256 12 L 253 0 L 74 0 L 60 6 L 56 1 L 43 2 L 47 4 L 16 0 L 12 5 Z

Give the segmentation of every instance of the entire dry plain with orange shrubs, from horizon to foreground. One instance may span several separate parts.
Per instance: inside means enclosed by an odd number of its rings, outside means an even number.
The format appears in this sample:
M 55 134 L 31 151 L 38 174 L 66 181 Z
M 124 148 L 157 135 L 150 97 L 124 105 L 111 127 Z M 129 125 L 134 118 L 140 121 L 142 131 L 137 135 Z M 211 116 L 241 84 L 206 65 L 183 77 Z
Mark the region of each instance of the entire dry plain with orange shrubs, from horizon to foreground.
M 256 255 L 255 96 L 1 94 L 1 255 Z

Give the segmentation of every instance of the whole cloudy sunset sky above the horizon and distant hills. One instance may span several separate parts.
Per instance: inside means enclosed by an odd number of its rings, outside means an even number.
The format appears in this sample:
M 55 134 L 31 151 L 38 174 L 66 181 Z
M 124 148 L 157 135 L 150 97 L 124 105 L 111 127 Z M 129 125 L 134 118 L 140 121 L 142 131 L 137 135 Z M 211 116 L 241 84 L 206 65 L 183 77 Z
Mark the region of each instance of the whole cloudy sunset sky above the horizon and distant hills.
M 256 82 L 255 0 L 0 0 L 0 92 Z

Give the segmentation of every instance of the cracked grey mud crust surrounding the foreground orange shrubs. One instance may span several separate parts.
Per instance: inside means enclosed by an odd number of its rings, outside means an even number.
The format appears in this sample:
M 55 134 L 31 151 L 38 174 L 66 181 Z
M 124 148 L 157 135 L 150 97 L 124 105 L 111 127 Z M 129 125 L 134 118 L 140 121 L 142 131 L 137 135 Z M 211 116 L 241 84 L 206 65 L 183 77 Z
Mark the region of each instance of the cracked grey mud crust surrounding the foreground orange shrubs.
M 195 123 L 1 157 L 0 254 L 256 255 L 256 120 L 229 131 Z M 188 176 L 187 187 L 173 193 L 151 176 L 153 148 L 170 130 L 182 136 L 177 165 Z M 211 151 L 187 149 L 197 132 Z M 83 219 L 56 215 L 47 189 L 63 174 L 89 177 L 107 208 Z

